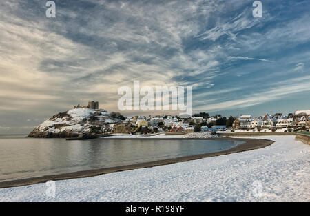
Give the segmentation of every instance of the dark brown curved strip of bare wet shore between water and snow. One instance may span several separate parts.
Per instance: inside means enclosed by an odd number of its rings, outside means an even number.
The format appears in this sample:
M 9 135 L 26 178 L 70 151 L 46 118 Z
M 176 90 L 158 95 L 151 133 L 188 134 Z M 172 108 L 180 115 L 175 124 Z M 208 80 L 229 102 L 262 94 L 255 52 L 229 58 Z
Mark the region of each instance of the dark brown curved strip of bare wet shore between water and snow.
M 113 139 L 113 138 L 105 138 L 105 139 Z M 128 138 L 114 138 L 114 139 L 128 139 Z M 130 138 L 130 139 L 145 139 L 145 138 Z M 174 139 L 174 138 L 147 138 L 147 139 L 156 139 L 156 140 L 167 140 L 167 139 Z M 188 138 L 178 138 L 178 139 L 188 139 Z M 76 179 L 76 178 L 83 178 L 83 177 L 94 177 L 97 175 L 103 175 L 107 173 L 115 173 L 121 172 L 125 170 L 134 170 L 138 168 L 150 168 L 153 166 L 162 166 L 167 164 L 174 164 L 179 162 L 191 161 L 194 159 L 203 159 L 205 157 L 215 157 L 220 155 L 227 155 L 231 153 L 239 153 L 246 150 L 254 150 L 258 148 L 264 148 L 273 144 L 273 141 L 269 139 L 243 139 L 243 138 L 206 138 L 206 139 L 199 139 L 199 140 L 212 140 L 212 139 L 223 139 L 223 140 L 232 140 L 232 141 L 244 141 L 244 143 L 239 144 L 234 148 L 230 148 L 228 150 L 223 150 L 216 153 L 205 153 L 200 155 L 190 155 L 185 157 L 177 157 L 173 159 L 163 159 L 159 161 L 151 161 L 145 162 L 141 164 L 132 164 L 132 165 L 125 165 L 125 166 L 116 166 L 112 168 L 101 168 L 96 170 L 83 170 L 77 171 L 73 173 L 63 173 L 63 174 L 56 174 L 56 175 L 45 175 L 42 177 L 32 177 L 27 179 L 17 179 L 12 181 L 3 181 L 0 182 L 0 188 L 10 188 L 10 187 L 18 187 L 18 186 L 27 186 L 30 184 L 39 184 L 45 183 L 46 181 L 59 181 L 65 179 Z

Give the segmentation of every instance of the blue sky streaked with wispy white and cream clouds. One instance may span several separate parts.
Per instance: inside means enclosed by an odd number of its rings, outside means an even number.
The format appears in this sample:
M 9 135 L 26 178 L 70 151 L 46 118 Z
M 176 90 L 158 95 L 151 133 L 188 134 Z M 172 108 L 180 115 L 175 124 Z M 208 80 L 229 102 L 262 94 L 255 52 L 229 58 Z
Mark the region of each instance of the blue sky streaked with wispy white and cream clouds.
M 118 112 L 118 88 L 192 86 L 194 112 L 310 109 L 310 1 L 0 2 L 0 134 L 76 104 Z M 122 112 L 149 115 L 149 112 Z

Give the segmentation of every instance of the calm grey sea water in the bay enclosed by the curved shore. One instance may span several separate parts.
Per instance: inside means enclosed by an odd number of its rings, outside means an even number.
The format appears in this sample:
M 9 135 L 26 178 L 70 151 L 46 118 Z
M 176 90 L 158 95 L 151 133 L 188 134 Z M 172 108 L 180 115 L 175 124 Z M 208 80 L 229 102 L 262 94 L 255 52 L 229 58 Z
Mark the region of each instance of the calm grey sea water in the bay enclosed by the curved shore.
M 138 164 L 227 150 L 240 141 L 35 139 L 0 135 L 0 181 Z

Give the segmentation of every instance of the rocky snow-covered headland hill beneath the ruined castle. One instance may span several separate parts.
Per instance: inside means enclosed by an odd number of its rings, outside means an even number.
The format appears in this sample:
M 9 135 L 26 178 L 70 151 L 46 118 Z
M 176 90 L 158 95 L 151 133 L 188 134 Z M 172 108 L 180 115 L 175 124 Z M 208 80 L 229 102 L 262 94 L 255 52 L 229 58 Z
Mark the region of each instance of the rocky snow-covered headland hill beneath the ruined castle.
M 34 128 L 28 137 L 77 137 L 80 134 L 109 132 L 111 124 L 118 122 L 115 115 L 105 110 L 74 108 L 59 112 Z

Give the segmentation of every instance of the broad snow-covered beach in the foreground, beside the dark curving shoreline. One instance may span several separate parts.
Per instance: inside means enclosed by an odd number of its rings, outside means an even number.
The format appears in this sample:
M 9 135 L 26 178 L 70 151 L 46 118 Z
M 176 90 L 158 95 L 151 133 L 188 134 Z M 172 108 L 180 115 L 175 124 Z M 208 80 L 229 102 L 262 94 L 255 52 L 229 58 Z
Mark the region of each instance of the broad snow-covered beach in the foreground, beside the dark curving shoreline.
M 266 136 L 271 146 L 166 166 L 0 189 L 0 202 L 309 202 L 310 146 Z

